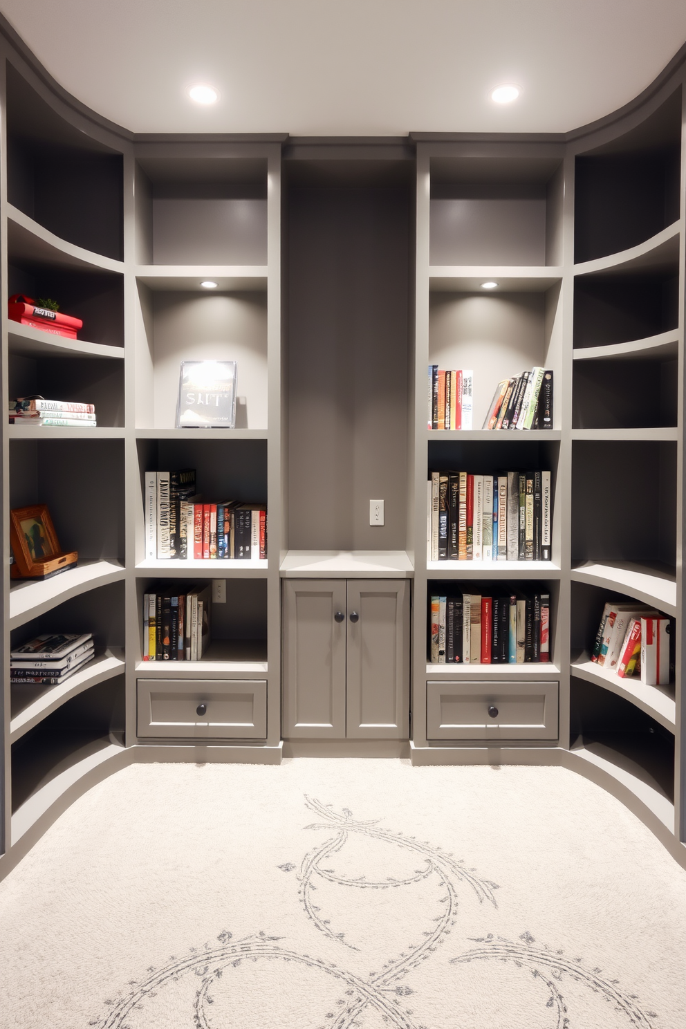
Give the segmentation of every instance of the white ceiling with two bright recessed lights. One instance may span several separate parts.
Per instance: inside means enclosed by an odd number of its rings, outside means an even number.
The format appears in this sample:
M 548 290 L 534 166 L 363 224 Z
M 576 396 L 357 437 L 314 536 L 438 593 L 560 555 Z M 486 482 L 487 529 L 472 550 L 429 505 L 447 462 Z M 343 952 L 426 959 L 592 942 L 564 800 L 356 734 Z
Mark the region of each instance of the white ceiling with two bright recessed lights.
M 0 0 L 78 100 L 133 132 L 567 132 L 640 94 L 684 0 Z M 202 108 L 186 90 L 209 82 Z M 491 91 L 521 87 L 499 107 Z

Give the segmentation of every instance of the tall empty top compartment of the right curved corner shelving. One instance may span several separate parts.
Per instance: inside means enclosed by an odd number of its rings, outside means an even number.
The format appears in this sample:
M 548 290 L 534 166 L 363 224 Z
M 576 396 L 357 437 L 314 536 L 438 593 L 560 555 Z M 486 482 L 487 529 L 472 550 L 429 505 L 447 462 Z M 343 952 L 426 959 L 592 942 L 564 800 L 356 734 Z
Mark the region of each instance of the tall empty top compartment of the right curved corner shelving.
M 679 219 L 681 87 L 633 132 L 576 158 L 574 260 L 649 240 Z

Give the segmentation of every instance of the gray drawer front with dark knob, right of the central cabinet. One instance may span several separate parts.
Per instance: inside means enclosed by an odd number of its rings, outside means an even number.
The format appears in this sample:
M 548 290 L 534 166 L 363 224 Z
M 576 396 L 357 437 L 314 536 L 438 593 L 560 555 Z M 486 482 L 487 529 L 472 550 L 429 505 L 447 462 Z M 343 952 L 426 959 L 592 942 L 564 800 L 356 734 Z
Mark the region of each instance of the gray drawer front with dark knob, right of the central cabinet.
M 557 693 L 556 682 L 427 682 L 427 738 L 556 740 Z

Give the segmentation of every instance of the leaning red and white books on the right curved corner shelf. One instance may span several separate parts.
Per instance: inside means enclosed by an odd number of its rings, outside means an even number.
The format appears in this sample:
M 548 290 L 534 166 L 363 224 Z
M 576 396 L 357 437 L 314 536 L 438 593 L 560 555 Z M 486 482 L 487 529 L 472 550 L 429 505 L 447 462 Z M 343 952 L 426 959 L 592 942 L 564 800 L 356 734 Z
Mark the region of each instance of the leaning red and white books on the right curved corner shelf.
M 670 618 L 646 604 L 608 601 L 598 627 L 590 660 L 619 678 L 641 676 L 648 686 L 672 681 Z

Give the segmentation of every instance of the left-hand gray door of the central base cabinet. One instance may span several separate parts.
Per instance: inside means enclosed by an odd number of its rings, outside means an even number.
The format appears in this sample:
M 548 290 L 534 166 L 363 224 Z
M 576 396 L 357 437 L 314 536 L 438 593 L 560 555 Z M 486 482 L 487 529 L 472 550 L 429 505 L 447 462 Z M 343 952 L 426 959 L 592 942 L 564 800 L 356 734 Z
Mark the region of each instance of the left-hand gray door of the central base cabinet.
M 346 581 L 284 579 L 283 610 L 284 737 L 342 740 Z

